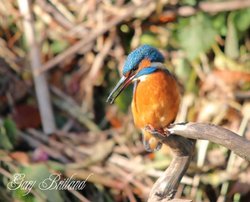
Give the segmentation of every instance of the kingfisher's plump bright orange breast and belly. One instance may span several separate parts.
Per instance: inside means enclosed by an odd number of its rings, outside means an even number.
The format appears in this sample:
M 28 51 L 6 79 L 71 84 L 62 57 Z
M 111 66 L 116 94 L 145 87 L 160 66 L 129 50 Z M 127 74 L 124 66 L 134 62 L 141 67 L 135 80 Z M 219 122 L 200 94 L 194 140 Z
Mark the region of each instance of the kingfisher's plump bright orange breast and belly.
M 146 76 L 137 84 L 132 101 L 135 125 L 160 129 L 174 121 L 178 113 L 180 93 L 176 80 L 164 71 Z

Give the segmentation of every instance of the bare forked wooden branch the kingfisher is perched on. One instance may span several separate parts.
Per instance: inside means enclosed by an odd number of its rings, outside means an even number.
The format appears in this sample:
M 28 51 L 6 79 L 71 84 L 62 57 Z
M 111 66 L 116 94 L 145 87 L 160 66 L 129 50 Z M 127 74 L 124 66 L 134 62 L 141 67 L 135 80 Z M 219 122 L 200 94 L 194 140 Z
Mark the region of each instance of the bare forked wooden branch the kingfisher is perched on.
M 157 133 L 153 135 L 170 146 L 175 157 L 164 174 L 154 184 L 149 202 L 171 201 L 174 197 L 175 190 L 190 163 L 196 139 L 220 144 L 250 161 L 250 141 L 220 126 L 205 123 L 182 123 L 173 124 L 166 131 L 170 133 L 169 136 Z

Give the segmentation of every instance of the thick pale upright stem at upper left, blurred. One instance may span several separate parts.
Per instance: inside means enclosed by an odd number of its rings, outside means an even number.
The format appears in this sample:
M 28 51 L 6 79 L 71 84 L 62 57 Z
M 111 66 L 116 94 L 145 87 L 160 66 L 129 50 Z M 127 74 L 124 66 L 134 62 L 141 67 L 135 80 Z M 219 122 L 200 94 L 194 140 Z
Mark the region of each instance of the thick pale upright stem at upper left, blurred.
M 50 134 L 56 130 L 56 126 L 45 74 L 35 75 L 35 71 L 37 71 L 37 69 L 41 66 L 41 59 L 40 50 L 35 39 L 35 29 L 30 11 L 29 0 L 18 0 L 18 5 L 23 16 L 24 32 L 29 48 L 30 65 L 33 73 L 43 130 L 44 133 Z

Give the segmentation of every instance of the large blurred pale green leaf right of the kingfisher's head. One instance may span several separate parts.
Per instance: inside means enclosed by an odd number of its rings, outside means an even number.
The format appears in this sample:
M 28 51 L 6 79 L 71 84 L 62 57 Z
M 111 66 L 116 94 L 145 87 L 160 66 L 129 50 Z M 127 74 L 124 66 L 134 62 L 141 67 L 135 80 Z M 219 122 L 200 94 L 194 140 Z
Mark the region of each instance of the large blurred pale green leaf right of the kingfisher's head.
M 208 51 L 215 42 L 215 35 L 211 19 L 202 13 L 190 17 L 189 22 L 178 30 L 178 39 L 189 60 Z

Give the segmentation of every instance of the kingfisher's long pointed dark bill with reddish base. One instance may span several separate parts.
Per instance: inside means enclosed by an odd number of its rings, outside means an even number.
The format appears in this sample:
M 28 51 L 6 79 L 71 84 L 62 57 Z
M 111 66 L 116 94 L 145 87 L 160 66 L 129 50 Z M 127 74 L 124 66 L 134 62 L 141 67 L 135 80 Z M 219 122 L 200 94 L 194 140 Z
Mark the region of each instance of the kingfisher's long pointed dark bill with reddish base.
M 116 86 L 112 90 L 112 92 L 109 94 L 106 102 L 113 104 L 115 99 L 121 94 L 121 92 L 132 82 L 133 78 L 134 78 L 134 76 L 131 76 L 131 77 L 123 76 L 119 80 L 119 82 L 116 84 Z

